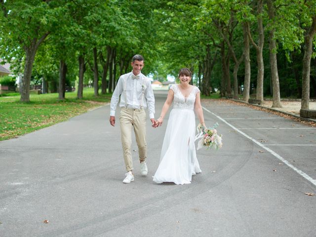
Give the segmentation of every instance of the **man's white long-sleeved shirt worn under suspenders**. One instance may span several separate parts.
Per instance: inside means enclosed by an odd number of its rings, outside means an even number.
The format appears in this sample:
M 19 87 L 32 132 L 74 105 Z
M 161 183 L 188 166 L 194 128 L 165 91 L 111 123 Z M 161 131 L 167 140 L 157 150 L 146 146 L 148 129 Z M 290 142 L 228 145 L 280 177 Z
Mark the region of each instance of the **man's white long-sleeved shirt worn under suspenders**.
M 151 80 L 148 79 L 142 73 L 138 74 L 139 79 L 132 79 L 133 73 L 130 72 L 127 75 L 122 75 L 118 79 L 118 84 L 115 87 L 111 98 L 111 110 L 110 116 L 115 116 L 115 110 L 117 108 L 119 96 L 120 102 L 119 107 L 125 107 L 127 104 L 127 108 L 140 109 L 140 101 L 142 98 L 143 87 L 145 88 L 144 100 L 142 103 L 142 107 L 145 109 L 148 107 L 149 118 L 155 118 L 155 97 L 152 89 Z M 138 76 L 137 75 L 137 76 Z M 126 97 L 123 92 L 123 78 L 126 77 Z M 126 103 L 125 103 L 126 101 Z

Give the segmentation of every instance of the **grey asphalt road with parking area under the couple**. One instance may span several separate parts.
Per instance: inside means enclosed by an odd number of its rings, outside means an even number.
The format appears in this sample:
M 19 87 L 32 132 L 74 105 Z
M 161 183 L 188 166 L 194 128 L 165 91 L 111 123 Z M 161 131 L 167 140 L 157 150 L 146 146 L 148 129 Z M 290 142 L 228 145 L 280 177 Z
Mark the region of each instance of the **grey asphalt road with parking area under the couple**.
M 166 94 L 155 93 L 159 115 Z M 202 173 L 190 185 L 152 182 L 166 124 L 150 122 L 149 174 L 139 175 L 134 143 L 135 182 L 123 184 L 109 106 L 0 142 L 0 236 L 315 237 L 316 196 L 305 193 L 316 194 L 316 129 L 223 101 L 202 105 L 224 147 L 197 151 Z

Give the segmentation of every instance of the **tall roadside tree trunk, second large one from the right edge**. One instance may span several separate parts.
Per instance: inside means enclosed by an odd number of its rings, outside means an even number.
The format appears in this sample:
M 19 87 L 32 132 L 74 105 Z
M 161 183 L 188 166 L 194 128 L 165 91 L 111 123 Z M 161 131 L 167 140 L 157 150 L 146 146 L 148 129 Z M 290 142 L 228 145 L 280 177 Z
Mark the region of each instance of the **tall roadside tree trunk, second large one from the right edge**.
M 267 0 L 268 4 L 268 14 L 269 19 L 274 21 L 275 18 L 275 7 L 272 0 Z M 275 24 L 275 23 L 272 23 Z M 271 78 L 272 78 L 272 89 L 273 89 L 273 103 L 272 107 L 281 108 L 281 98 L 280 98 L 280 85 L 277 72 L 277 61 L 276 61 L 276 40 L 274 35 L 276 28 L 273 27 L 269 33 L 269 58 L 270 58 L 270 68 L 271 68 Z

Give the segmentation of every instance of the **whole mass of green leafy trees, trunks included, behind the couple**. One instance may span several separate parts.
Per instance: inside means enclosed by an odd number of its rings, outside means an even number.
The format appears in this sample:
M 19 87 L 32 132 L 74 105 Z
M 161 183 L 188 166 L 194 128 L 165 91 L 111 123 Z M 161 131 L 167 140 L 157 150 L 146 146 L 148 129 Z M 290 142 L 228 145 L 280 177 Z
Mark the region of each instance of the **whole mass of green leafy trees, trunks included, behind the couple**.
M 193 72 L 202 93 L 316 97 L 315 0 L 0 0 L 0 58 L 65 98 L 111 93 L 135 54 L 153 79 Z M 304 101 L 304 105 L 303 105 Z

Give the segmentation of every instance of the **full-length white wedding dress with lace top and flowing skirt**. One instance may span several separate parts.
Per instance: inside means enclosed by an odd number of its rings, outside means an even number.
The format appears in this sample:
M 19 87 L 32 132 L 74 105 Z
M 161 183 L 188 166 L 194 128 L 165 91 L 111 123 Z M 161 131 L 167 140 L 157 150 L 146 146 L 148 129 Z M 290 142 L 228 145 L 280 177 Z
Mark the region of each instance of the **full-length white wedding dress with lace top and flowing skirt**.
M 199 89 L 194 86 L 185 98 L 178 84 L 174 91 L 173 109 L 164 135 L 158 169 L 154 175 L 156 183 L 173 182 L 191 184 L 192 175 L 200 173 L 195 147 L 196 119 L 194 105 Z

